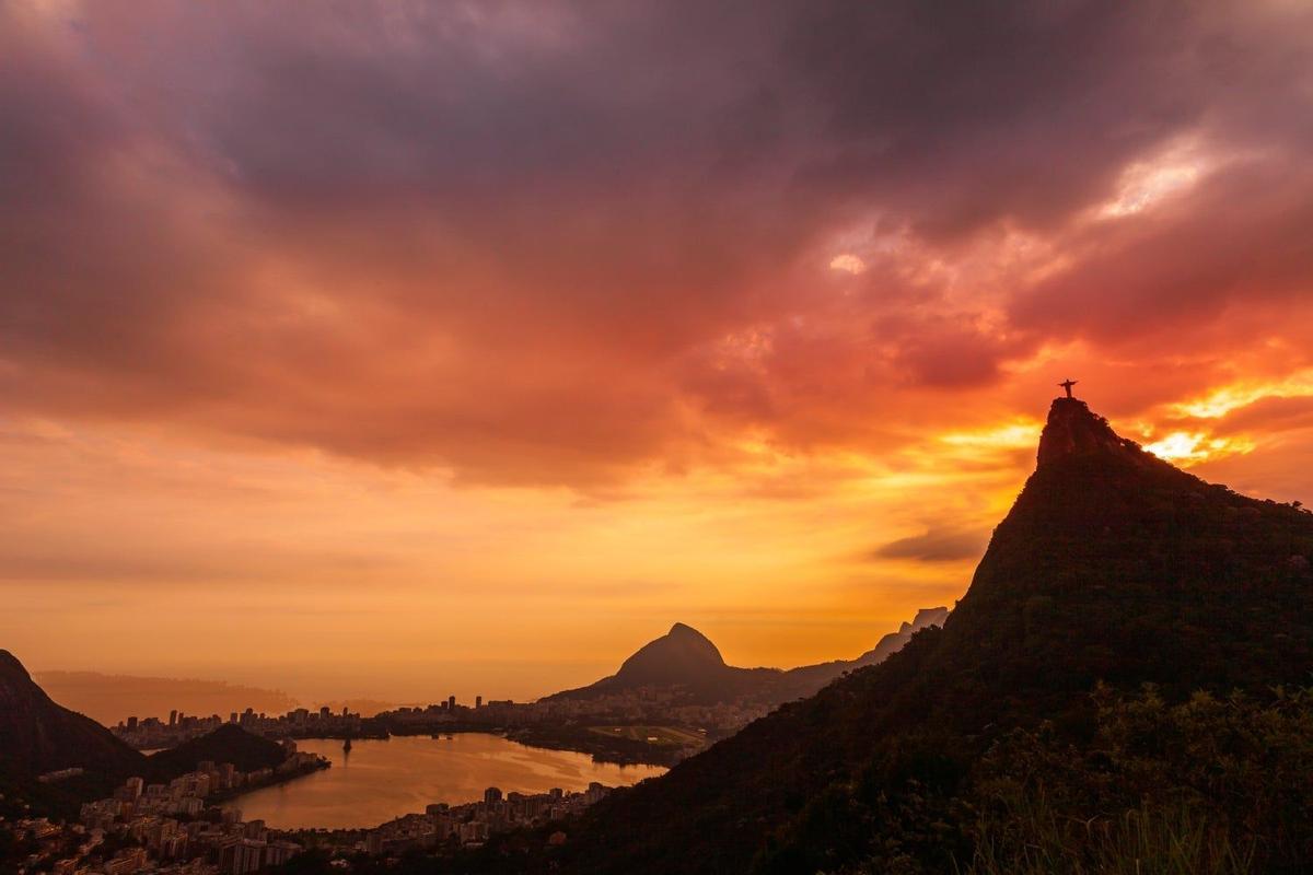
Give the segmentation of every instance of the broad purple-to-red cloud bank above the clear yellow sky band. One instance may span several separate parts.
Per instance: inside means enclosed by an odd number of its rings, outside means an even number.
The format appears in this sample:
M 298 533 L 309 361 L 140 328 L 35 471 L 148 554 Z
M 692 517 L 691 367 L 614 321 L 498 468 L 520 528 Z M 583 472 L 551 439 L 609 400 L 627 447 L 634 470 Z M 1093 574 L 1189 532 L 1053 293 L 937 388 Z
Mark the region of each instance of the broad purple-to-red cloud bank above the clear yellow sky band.
M 741 428 L 894 441 L 872 409 L 916 418 L 918 392 L 998 384 L 1046 341 L 1186 344 L 1296 306 L 1310 25 L 1276 3 L 9 4 L 0 391 L 473 480 L 613 480 Z M 1088 220 L 1182 138 L 1196 185 Z M 1057 266 L 972 294 L 932 269 L 1010 230 Z M 869 272 L 843 281 L 850 249 Z

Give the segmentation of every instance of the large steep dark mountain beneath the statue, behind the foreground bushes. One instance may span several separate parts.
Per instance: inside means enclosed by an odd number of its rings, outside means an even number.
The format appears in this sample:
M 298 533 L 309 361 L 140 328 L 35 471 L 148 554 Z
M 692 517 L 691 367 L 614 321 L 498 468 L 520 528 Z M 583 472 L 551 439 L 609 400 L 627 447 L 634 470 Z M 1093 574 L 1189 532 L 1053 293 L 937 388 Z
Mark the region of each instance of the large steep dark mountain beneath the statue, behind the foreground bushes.
M 1098 682 L 1153 682 L 1169 701 L 1308 683 L 1310 555 L 1308 512 L 1211 485 L 1057 399 L 1035 472 L 941 628 L 613 794 L 554 863 L 952 871 L 951 808 L 916 812 L 970 786 L 1012 728 L 1087 736 Z

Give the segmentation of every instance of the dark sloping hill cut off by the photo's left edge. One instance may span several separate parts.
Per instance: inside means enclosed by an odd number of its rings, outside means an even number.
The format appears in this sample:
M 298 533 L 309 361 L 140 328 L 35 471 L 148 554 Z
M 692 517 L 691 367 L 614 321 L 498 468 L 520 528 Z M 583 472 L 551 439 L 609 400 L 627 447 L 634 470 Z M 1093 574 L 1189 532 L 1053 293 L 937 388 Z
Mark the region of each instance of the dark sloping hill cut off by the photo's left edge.
M 0 769 L 38 775 L 80 767 L 138 773 L 146 758 L 91 718 L 55 704 L 9 651 L 0 651 Z

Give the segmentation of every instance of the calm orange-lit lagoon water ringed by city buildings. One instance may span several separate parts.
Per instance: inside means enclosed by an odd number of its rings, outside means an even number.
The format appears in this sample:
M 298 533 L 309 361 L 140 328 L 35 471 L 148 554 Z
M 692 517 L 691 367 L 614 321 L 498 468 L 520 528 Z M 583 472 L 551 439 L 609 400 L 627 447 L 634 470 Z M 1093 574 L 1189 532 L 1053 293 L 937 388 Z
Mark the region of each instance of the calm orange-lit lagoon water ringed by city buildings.
M 307 739 L 297 746 L 328 757 L 332 767 L 238 798 L 231 804 L 246 820 L 264 820 L 277 829 L 377 826 L 432 803 L 479 800 L 487 787 L 569 791 L 584 790 L 592 781 L 616 787 L 666 773 L 662 766 L 593 762 L 588 754 L 530 748 L 481 732 L 353 741 L 351 754 L 336 739 Z

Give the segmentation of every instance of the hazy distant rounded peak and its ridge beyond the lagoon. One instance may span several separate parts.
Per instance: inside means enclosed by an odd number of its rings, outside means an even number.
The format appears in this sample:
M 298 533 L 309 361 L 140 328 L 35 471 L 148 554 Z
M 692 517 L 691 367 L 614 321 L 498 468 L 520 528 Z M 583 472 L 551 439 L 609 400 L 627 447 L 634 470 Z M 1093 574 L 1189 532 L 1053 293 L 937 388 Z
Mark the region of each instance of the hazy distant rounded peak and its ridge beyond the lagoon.
M 915 632 L 941 626 L 947 607 L 927 607 L 915 619 L 889 632 L 876 647 L 855 660 L 835 660 L 796 669 L 735 668 L 709 638 L 692 626 L 675 623 L 660 638 L 643 644 L 626 659 L 620 669 L 600 681 L 546 697 L 551 699 L 595 699 L 639 689 L 656 689 L 678 694 L 691 703 L 717 703 L 752 699 L 784 702 L 811 695 L 844 672 L 874 665 L 897 652 Z

